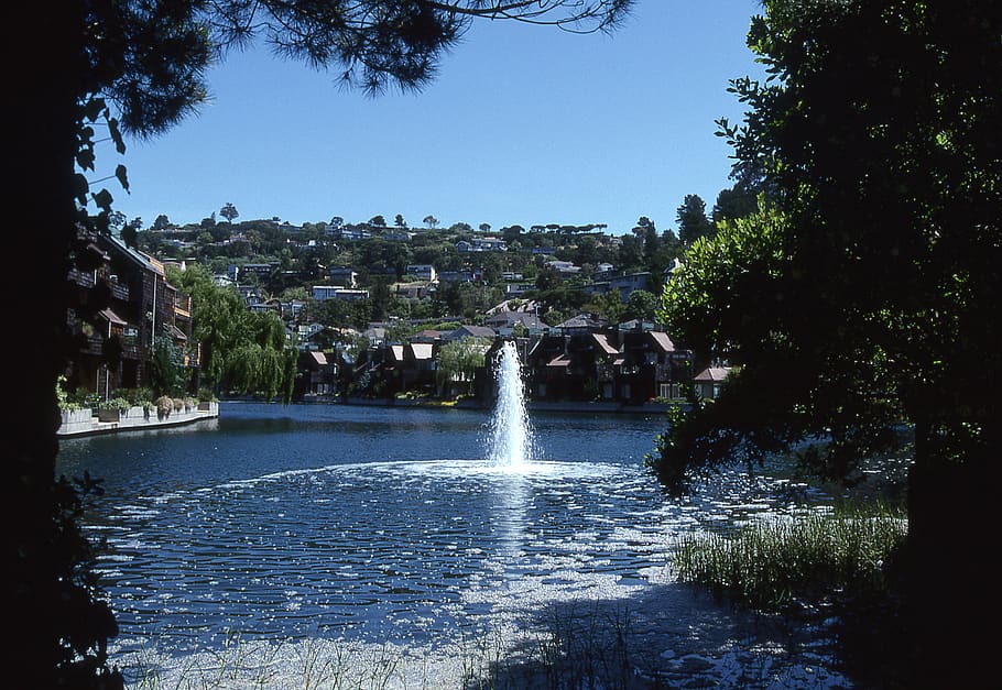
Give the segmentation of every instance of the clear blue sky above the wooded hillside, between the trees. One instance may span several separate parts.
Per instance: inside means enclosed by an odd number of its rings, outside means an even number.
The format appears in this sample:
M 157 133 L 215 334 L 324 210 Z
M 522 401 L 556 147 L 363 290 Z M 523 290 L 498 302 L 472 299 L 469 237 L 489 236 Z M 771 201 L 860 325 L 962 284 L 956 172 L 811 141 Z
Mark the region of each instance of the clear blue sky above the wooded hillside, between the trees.
M 639 0 L 612 35 L 475 22 L 420 94 L 370 98 L 259 47 L 209 72 L 211 101 L 164 135 L 129 142 L 131 191 L 116 208 L 143 227 L 292 223 L 401 213 L 412 226 L 607 223 L 675 228 L 686 194 L 712 207 L 731 154 L 714 121 L 740 120 L 727 92 L 763 72 L 745 45 L 749 0 Z M 100 172 L 98 173 L 98 176 Z M 112 180 L 113 182 L 113 180 Z

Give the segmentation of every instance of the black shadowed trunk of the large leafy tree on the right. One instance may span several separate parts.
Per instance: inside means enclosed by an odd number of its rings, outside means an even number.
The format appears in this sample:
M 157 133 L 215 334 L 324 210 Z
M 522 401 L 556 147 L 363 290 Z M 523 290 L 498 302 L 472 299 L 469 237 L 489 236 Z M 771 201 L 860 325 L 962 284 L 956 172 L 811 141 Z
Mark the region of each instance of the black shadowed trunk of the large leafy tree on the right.
M 904 602 L 912 687 L 998 687 L 999 441 L 989 429 L 958 462 L 934 427 L 916 425 Z

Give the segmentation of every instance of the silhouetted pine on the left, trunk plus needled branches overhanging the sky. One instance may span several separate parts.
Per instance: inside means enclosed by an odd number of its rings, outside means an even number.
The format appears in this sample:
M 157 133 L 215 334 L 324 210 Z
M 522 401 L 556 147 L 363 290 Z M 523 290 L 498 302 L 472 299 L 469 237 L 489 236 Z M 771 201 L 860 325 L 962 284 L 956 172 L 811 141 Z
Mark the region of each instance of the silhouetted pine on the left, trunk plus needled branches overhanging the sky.
M 112 195 L 90 188 L 101 142 L 124 150 L 124 135 L 152 136 L 194 114 L 205 99 L 205 70 L 233 46 L 264 41 L 280 55 L 331 69 L 367 91 L 420 88 L 443 53 L 477 18 L 607 31 L 630 0 L 83 0 L 18 2 L 4 17 L 4 45 L 15 57 L 4 109 L 8 223 L 28 238 L 28 261 L 4 271 L 7 294 L 32 300 L 33 343 L 7 385 L 22 404 L 8 417 L 2 504 L 3 557 L 12 582 L 9 620 L 18 629 L 10 658 L 35 687 L 85 687 L 107 676 L 104 643 L 113 625 L 67 615 L 69 600 L 96 603 L 78 572 L 74 495 L 55 479 L 59 417 L 54 382 L 68 338 L 65 277 L 77 223 L 107 228 Z M 124 168 L 115 175 L 128 185 Z M 97 614 L 96 614 L 97 615 Z M 100 682 L 113 682 L 109 678 Z

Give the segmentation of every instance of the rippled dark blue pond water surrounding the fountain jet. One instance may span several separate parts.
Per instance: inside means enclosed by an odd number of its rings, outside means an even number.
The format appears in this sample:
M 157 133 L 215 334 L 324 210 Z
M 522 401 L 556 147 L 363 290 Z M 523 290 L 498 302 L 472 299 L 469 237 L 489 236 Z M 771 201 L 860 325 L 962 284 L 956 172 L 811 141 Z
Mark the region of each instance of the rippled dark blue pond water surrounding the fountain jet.
M 118 654 L 218 657 L 235 635 L 272 658 L 285 642 L 393 645 L 423 655 L 421 679 L 394 666 L 396 684 L 446 688 L 461 687 L 456 669 L 432 659 L 455 661 L 461 640 L 493 636 L 490 660 L 510 669 L 543 664 L 540 640 L 562 635 L 608 650 L 611 631 L 629 659 L 620 686 L 845 683 L 823 656 L 793 654 L 672 578 L 682 530 L 787 510 L 804 488 L 723 477 L 671 500 L 643 468 L 656 416 L 534 417 L 541 457 L 515 472 L 486 459 L 488 423 L 225 403 L 216 423 L 63 441 L 62 472 L 105 480 L 88 529 L 108 543 Z

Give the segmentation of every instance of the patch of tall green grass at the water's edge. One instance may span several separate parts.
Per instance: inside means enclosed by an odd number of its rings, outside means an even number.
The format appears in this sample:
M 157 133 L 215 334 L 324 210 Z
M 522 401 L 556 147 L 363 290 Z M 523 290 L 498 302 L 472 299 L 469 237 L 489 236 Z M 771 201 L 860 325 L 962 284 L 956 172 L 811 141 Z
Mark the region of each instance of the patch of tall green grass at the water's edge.
M 885 589 L 884 563 L 907 532 L 903 507 L 846 503 L 831 511 L 694 534 L 676 545 L 678 580 L 763 611 Z

